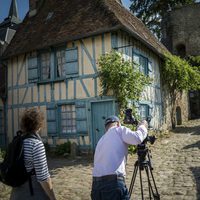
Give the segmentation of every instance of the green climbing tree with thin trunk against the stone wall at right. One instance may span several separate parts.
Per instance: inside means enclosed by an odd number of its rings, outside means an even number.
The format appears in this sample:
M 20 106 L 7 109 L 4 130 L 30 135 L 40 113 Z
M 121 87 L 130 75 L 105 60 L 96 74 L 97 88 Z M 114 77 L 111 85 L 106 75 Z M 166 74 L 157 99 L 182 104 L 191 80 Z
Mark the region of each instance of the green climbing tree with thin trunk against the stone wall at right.
M 171 122 L 175 127 L 176 102 L 183 91 L 200 89 L 200 73 L 197 67 L 172 54 L 165 54 L 162 80 L 169 89 L 171 103 Z

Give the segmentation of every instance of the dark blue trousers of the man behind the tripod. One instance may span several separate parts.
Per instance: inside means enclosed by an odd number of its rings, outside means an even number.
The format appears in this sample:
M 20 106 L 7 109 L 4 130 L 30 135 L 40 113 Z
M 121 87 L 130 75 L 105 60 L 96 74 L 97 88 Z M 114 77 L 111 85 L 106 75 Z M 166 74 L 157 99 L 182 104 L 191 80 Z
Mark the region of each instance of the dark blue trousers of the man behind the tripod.
M 92 183 L 92 200 L 129 200 L 128 189 L 122 177 L 102 179 Z

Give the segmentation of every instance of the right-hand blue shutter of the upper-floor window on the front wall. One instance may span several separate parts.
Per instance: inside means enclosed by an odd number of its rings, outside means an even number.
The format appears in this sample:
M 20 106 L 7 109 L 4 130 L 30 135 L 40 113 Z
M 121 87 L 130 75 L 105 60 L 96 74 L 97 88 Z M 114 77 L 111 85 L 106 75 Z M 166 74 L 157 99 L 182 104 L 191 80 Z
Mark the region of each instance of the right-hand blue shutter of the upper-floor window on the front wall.
M 78 48 L 66 49 L 66 75 L 78 74 Z

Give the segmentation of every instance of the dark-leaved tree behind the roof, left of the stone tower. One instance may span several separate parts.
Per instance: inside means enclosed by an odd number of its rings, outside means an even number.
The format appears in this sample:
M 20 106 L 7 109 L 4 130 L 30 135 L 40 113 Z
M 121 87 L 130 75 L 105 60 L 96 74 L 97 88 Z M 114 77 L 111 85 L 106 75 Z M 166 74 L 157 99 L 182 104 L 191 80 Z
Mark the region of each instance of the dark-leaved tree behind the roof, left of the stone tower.
M 160 39 L 161 22 L 175 7 L 195 3 L 195 0 L 130 0 L 130 10 Z

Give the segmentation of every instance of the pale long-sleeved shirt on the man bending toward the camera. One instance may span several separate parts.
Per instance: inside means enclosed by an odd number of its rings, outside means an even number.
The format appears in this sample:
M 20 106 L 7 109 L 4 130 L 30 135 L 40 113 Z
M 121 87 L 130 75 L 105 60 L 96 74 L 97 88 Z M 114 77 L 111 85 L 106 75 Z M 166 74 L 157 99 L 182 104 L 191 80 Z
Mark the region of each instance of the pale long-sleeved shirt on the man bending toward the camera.
M 147 129 L 144 125 L 140 125 L 137 131 L 131 131 L 124 126 L 113 126 L 108 129 L 96 146 L 93 176 L 110 174 L 125 176 L 128 145 L 140 144 L 146 136 Z

